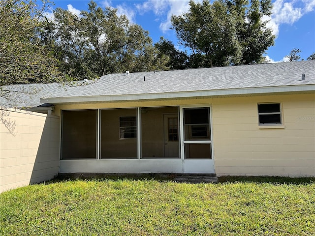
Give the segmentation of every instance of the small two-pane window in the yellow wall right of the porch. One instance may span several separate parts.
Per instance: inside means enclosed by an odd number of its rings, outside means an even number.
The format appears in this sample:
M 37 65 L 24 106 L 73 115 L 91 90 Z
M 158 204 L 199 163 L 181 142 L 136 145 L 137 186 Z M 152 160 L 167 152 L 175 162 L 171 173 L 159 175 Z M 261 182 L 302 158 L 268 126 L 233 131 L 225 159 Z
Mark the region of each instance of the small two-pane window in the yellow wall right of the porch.
M 282 124 L 280 103 L 258 104 L 259 125 Z

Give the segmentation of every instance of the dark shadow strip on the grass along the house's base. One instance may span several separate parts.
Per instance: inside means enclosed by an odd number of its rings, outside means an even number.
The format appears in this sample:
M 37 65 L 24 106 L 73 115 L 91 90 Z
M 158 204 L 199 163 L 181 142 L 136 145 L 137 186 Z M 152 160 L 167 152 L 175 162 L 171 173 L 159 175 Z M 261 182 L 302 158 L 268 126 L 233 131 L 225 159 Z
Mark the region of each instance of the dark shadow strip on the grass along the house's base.
M 75 174 L 59 174 L 50 182 L 61 182 L 68 180 L 156 180 L 160 182 L 174 181 L 181 174 L 90 174 L 90 173 L 75 173 Z M 198 175 L 197 175 L 198 176 Z M 201 175 L 199 175 L 201 176 Z M 255 182 L 255 183 L 272 183 L 272 184 L 310 184 L 315 183 L 315 177 L 249 177 L 249 176 L 222 176 L 219 177 L 219 183 L 236 183 L 236 182 Z

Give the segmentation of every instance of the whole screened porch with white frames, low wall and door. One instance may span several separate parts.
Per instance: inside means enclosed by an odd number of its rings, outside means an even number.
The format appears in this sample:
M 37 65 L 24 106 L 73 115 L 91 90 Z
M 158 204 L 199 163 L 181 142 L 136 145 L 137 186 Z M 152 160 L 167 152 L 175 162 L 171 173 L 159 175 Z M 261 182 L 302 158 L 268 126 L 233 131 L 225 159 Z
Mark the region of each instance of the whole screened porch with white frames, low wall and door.
M 61 173 L 215 173 L 209 105 L 61 114 Z

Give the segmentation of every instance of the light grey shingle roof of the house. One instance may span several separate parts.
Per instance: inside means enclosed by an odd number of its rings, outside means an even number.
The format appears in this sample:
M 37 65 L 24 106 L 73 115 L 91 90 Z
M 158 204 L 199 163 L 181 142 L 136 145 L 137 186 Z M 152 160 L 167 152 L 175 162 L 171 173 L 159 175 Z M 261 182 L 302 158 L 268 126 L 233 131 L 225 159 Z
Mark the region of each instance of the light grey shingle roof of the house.
M 302 80 L 305 74 L 305 80 Z M 40 92 L 25 104 L 38 106 L 38 98 L 69 98 L 158 94 L 219 89 L 315 85 L 315 60 L 212 67 L 187 70 L 109 74 L 83 86 L 32 85 Z M 20 85 L 14 88 L 31 88 Z

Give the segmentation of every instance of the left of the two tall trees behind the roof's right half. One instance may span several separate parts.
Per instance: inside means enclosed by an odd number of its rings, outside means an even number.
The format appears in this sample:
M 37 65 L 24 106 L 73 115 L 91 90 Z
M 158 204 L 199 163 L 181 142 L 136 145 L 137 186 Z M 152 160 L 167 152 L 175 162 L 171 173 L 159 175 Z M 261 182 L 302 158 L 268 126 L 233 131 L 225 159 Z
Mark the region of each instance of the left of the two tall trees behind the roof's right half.
M 210 4 L 206 0 L 202 4 L 190 1 L 189 5 L 188 13 L 172 17 L 180 42 L 189 47 L 193 55 L 204 59 L 198 66 L 227 65 L 232 52 L 237 51 L 237 44 L 231 16 L 223 15 L 227 12 L 226 6 L 221 1 Z

